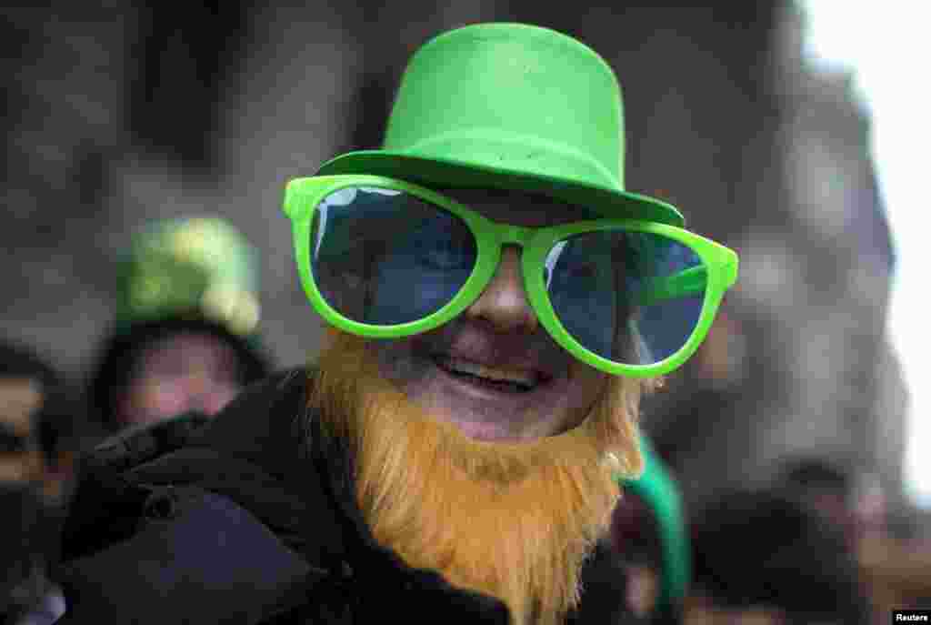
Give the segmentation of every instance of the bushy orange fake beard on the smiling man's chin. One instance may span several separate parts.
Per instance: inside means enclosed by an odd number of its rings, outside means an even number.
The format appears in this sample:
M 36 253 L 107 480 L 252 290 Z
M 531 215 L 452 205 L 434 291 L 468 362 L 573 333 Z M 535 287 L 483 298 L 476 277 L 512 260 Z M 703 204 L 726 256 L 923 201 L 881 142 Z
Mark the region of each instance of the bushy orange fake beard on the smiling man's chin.
M 386 381 L 366 341 L 330 331 L 310 404 L 349 442 L 358 506 L 376 540 L 414 567 L 503 600 L 513 622 L 557 623 L 619 496 L 639 472 L 641 384 L 612 377 L 586 421 L 535 442 L 467 438 Z

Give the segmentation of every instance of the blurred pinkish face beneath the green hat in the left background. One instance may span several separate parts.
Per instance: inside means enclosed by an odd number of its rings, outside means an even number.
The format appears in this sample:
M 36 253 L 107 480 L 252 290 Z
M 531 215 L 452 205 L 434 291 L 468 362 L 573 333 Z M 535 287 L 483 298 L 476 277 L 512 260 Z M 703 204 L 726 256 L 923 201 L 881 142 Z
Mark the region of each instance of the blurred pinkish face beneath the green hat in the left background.
M 219 413 L 241 388 L 236 350 L 209 333 L 178 333 L 137 360 L 118 417 L 126 425 Z

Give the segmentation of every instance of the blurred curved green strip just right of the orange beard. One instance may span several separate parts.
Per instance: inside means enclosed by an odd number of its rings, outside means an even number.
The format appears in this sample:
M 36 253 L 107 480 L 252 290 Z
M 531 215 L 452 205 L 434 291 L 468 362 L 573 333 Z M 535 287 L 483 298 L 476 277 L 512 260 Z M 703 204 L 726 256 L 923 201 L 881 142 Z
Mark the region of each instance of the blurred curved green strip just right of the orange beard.
M 656 455 L 653 444 L 642 434 L 639 441 L 643 472 L 637 478 L 618 476 L 618 481 L 625 490 L 640 496 L 654 514 L 663 566 L 658 605 L 661 610 L 669 610 L 684 601 L 692 570 L 682 496 L 679 485 Z M 623 499 L 621 501 L 624 505 Z

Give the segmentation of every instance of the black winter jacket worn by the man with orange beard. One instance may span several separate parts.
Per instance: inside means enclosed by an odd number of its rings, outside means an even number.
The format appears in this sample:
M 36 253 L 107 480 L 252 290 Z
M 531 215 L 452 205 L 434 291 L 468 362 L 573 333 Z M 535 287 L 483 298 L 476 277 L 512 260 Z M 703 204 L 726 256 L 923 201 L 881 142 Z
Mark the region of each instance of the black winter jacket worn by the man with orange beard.
M 499 600 L 375 542 L 345 450 L 298 418 L 306 377 L 277 374 L 203 427 L 174 419 L 88 458 L 55 575 L 61 625 L 508 622 Z

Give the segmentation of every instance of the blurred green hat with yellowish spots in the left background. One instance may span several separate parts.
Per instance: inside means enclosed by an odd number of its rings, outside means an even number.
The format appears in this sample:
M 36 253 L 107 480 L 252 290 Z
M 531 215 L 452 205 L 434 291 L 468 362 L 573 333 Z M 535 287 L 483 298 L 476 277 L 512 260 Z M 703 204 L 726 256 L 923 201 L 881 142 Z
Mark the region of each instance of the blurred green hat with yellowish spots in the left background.
M 169 318 L 207 319 L 239 336 L 257 328 L 257 254 L 222 219 L 151 224 L 132 238 L 118 266 L 117 331 Z

